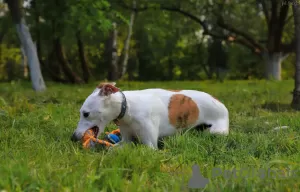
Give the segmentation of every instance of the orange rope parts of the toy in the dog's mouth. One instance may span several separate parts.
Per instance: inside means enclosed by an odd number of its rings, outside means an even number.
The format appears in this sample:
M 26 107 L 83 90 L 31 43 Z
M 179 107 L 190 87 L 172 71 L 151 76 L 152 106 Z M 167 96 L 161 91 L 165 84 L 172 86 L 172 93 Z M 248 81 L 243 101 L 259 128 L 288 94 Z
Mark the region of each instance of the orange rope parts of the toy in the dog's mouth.
M 108 135 L 109 134 L 120 134 L 120 130 L 117 129 L 117 130 L 112 131 L 111 133 L 106 133 L 106 134 L 108 134 Z M 113 143 L 110 143 L 108 141 L 100 140 L 100 139 L 96 138 L 93 129 L 92 128 L 88 129 L 82 137 L 83 148 L 90 148 L 92 145 L 95 145 L 97 143 L 101 144 L 101 145 L 104 145 L 106 147 L 113 147 L 114 146 Z

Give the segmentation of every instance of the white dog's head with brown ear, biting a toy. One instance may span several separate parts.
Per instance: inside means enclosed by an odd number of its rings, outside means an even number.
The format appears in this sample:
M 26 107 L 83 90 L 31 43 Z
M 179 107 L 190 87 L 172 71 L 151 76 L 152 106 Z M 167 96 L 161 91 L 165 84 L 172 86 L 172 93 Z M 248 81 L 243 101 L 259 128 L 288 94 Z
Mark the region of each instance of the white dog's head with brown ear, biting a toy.
M 104 131 L 105 126 L 114 120 L 120 109 L 116 109 L 112 104 L 112 94 L 119 91 L 115 87 L 116 83 L 101 83 L 90 94 L 80 108 L 80 120 L 74 131 L 71 140 L 80 140 L 84 133 L 93 128 L 96 137 Z

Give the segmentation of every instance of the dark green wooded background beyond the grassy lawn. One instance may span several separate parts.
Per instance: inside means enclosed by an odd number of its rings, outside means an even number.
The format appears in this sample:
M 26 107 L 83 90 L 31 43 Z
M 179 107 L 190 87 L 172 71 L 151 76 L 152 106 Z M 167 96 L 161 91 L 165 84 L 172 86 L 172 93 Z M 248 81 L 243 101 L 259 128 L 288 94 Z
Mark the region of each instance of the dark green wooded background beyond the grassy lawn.
M 282 54 L 282 73 L 274 78 L 294 76 L 290 1 L 8 2 L 24 4 L 20 13 L 46 80 L 261 79 L 277 53 Z M 8 6 L 0 5 L 0 80 L 28 79 Z

